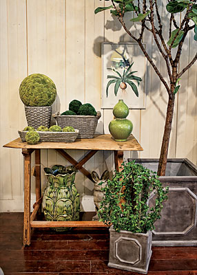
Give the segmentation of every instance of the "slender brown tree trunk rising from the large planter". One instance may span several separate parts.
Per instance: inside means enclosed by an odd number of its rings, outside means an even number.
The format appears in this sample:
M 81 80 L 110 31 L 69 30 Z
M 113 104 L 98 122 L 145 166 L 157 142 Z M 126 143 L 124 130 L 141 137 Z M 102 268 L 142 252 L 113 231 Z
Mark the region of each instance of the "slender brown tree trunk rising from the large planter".
M 171 88 L 172 91 L 174 91 L 174 88 Z M 174 113 L 174 96 L 173 98 L 169 98 L 168 104 L 167 104 L 167 113 L 166 113 L 166 119 L 165 119 L 165 129 L 163 133 L 163 141 L 160 149 L 160 158 L 158 162 L 158 171 L 157 175 L 159 176 L 165 176 L 165 169 L 167 165 L 167 153 L 168 153 L 168 147 L 169 147 L 169 137 L 172 129 L 172 118 Z

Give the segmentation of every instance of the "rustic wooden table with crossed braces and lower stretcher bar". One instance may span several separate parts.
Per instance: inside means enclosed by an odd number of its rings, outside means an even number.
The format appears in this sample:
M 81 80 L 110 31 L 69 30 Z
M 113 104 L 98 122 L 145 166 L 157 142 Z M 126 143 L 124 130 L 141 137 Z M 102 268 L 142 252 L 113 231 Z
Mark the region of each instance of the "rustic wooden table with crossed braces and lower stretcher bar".
M 3 147 L 21 148 L 24 156 L 24 220 L 23 220 L 23 245 L 30 245 L 31 228 L 53 228 L 53 227 L 103 227 L 106 226 L 100 221 L 34 221 L 37 211 L 41 206 L 41 149 L 54 149 L 67 159 L 72 165 L 92 180 L 90 172 L 83 168 L 87 162 L 98 151 L 114 151 L 114 163 L 116 170 L 123 162 L 123 151 L 143 151 L 136 138 L 130 135 L 126 142 L 116 142 L 111 135 L 95 135 L 92 139 L 76 139 L 75 142 L 39 142 L 35 145 L 22 142 L 17 138 Z M 76 162 L 66 149 L 89 151 L 80 162 Z M 31 155 L 35 151 L 36 176 L 36 199 L 34 210 L 30 213 L 31 201 Z

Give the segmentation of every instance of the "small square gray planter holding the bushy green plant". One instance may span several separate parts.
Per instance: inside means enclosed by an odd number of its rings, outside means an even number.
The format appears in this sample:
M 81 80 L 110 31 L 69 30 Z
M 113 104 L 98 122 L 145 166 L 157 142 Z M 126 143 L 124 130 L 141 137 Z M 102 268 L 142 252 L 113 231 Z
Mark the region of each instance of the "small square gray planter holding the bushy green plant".
M 152 255 L 152 232 L 116 232 L 110 228 L 109 267 L 147 274 Z

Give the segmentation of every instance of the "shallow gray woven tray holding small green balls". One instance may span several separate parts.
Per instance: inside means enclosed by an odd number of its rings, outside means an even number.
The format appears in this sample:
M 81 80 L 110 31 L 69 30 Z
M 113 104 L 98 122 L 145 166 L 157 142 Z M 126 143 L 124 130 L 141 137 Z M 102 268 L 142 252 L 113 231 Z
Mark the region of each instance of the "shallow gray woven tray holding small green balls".
M 18 131 L 22 142 L 25 142 L 27 131 Z M 79 135 L 79 130 L 75 132 L 37 132 L 40 135 L 40 142 L 74 142 Z

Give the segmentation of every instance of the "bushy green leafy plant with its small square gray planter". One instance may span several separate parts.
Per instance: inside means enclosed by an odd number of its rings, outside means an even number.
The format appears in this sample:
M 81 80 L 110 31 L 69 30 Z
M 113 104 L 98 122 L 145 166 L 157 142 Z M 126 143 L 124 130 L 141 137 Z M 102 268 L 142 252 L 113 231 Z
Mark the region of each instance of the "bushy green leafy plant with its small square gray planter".
M 123 163 L 108 179 L 98 217 L 110 228 L 108 266 L 133 272 L 147 273 L 152 254 L 152 229 L 167 188 L 163 188 L 156 173 L 135 162 Z M 154 203 L 149 206 L 149 197 Z

